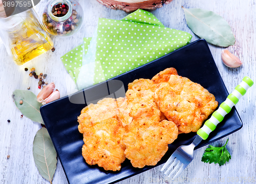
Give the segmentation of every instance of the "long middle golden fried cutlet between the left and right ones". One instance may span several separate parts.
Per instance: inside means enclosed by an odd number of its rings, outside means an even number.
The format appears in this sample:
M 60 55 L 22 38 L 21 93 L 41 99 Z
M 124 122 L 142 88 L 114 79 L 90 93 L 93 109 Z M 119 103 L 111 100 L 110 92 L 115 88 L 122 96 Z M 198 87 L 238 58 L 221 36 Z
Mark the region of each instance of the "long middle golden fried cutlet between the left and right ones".
M 127 130 L 124 154 L 133 167 L 154 166 L 168 144 L 177 139 L 178 128 L 171 121 L 161 121 L 162 113 L 154 99 L 157 86 L 151 80 L 135 80 L 128 86 L 125 99 L 117 99 L 118 117 Z

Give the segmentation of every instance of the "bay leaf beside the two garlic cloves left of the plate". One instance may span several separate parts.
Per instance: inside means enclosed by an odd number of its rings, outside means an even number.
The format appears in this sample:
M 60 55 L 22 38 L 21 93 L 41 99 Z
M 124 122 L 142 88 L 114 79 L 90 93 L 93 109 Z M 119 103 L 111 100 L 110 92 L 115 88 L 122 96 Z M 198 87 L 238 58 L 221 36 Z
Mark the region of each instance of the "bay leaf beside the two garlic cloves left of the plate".
M 13 92 L 13 100 L 24 116 L 32 121 L 44 124 L 40 113 L 40 107 L 42 104 L 37 102 L 35 94 L 28 90 L 16 89 Z M 19 103 L 20 100 L 23 101 L 23 104 Z

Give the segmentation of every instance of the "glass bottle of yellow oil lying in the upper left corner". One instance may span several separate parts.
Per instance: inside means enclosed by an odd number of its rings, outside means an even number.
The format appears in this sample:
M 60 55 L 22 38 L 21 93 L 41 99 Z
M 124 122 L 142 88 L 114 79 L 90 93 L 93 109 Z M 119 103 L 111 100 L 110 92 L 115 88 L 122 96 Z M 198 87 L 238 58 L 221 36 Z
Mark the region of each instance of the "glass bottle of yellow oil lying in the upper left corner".
M 53 48 L 53 42 L 42 29 L 33 8 L 8 17 L 0 11 L 0 37 L 17 65 Z

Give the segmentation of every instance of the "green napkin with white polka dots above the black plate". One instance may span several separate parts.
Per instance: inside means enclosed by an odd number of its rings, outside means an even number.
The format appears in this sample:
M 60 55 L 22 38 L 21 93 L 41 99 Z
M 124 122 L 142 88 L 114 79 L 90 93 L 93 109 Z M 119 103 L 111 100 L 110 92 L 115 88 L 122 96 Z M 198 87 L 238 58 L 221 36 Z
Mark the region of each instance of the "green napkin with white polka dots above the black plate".
M 71 76 L 82 89 L 173 52 L 190 39 L 189 33 L 165 28 L 152 13 L 140 9 L 122 20 L 99 18 L 82 67 L 73 67 Z M 73 57 L 69 60 L 74 61 Z

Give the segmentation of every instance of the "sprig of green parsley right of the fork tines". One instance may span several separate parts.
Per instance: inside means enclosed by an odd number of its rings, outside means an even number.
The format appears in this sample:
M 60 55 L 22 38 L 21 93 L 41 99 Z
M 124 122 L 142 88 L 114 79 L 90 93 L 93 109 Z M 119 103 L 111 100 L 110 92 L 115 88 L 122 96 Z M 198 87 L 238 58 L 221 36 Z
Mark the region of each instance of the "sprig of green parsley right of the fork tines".
M 209 164 L 219 164 L 220 166 L 224 165 L 231 158 L 231 155 L 226 148 L 227 142 L 222 147 L 210 146 L 209 148 L 207 148 L 204 151 L 201 161 Z

